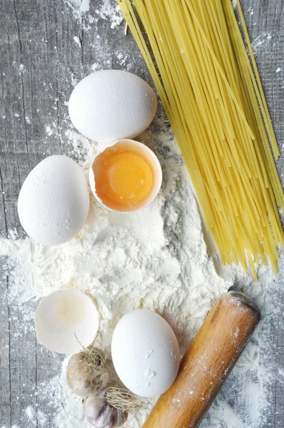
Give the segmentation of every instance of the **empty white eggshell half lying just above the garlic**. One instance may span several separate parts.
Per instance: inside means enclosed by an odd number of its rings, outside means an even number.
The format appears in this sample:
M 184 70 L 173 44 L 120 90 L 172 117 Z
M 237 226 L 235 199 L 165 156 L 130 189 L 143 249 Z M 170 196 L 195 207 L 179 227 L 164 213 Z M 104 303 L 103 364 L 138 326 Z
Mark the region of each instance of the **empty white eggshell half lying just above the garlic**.
M 36 337 L 59 354 L 77 354 L 96 337 L 99 314 L 93 300 L 78 290 L 53 292 L 36 310 Z

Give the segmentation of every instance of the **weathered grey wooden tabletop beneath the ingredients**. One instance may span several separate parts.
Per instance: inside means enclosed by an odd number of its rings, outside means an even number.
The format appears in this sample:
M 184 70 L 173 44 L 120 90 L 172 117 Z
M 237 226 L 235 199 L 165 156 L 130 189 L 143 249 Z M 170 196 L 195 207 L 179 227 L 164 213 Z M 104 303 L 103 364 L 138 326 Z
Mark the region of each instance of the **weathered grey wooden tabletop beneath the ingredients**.
M 91 13 L 101 0 L 91 0 Z M 283 176 L 284 151 L 284 2 L 283 0 L 243 0 L 245 18 L 251 39 L 256 39 L 257 61 L 268 98 L 275 131 L 282 151 L 278 168 Z M 72 90 L 72 79 L 80 80 L 97 61 L 96 40 L 101 36 L 108 68 L 125 68 L 112 52 L 127 49 L 136 61 L 128 70 L 148 78 L 146 66 L 138 54 L 131 36 L 123 35 L 123 26 L 111 29 L 109 21 L 98 19 L 85 31 L 86 17 L 76 18 L 64 0 L 1 0 L 0 2 L 0 234 L 7 237 L 16 228 L 19 237 L 24 231 L 19 225 L 16 200 L 21 184 L 31 168 L 49 154 L 66 153 L 70 146 L 66 129 L 66 106 Z M 269 34 L 272 38 L 269 39 Z M 73 41 L 79 36 L 82 49 Z M 263 40 L 263 43 L 261 41 Z M 258 44 L 258 42 L 260 42 Z M 127 64 L 126 64 L 127 65 Z M 280 67 L 282 70 L 275 73 Z M 148 78 L 149 80 L 149 78 Z M 57 132 L 46 133 L 46 124 Z M 62 130 L 62 133 L 61 133 Z M 283 262 L 283 260 L 282 260 Z M 9 270 L 6 259 L 0 258 L 0 427 L 40 427 L 23 417 L 28 405 L 50 413 L 44 427 L 51 428 L 52 409 L 41 397 L 37 385 L 51 379 L 61 370 L 61 357 L 46 351 L 38 343 L 33 322 L 23 322 L 23 312 L 17 302 L 8 304 Z M 281 263 L 283 266 L 284 263 Z M 282 267 L 281 267 L 282 269 Z M 240 415 L 243 428 L 284 427 L 284 385 L 279 375 L 283 370 L 283 275 L 260 300 L 263 322 L 252 344 L 260 347 L 260 360 L 271 374 L 268 385 L 268 408 L 262 422 L 255 427 L 250 422 L 249 402 L 244 400 L 243 372 L 235 370 L 225 382 L 220 397 L 204 427 L 233 427 L 222 414 L 222 402 L 230 404 Z M 263 303 L 264 302 L 264 303 Z M 29 302 L 27 307 L 33 307 Z M 274 308 L 274 313 L 271 312 Z M 259 340 L 261 338 L 261 340 Z M 259 342 L 259 344 L 258 344 Z M 245 351 L 246 352 L 246 351 Z M 253 372 L 248 371 L 248 375 Z M 252 392 L 253 394 L 253 392 Z M 245 402 L 244 402 L 245 401 Z M 259 404 L 260 405 L 260 404 Z M 215 417 L 219 412 L 219 419 Z M 258 409 L 261 413 L 263 409 Z M 49 419 L 49 418 L 48 418 Z M 217 422 L 216 422 L 217 421 Z M 162 428 L 162 427 L 161 427 Z M 165 427 L 166 428 L 166 427 Z

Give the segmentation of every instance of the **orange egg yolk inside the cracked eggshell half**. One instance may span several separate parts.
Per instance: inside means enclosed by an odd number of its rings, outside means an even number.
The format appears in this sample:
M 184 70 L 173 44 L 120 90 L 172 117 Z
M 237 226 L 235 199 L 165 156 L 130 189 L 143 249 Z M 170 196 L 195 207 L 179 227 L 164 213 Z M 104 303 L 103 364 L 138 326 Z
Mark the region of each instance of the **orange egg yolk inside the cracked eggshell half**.
M 96 191 L 102 200 L 135 205 L 146 198 L 153 184 L 150 166 L 134 153 L 115 153 L 103 160 L 100 170 Z

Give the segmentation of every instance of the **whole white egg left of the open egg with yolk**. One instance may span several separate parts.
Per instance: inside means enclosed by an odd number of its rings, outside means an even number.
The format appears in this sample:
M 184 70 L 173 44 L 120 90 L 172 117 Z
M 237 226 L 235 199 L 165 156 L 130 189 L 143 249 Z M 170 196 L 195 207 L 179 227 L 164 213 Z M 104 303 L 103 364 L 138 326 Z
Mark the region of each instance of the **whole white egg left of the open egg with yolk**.
M 88 216 L 85 175 L 72 159 L 56 155 L 31 170 L 21 187 L 18 213 L 26 233 L 44 245 L 73 238 Z

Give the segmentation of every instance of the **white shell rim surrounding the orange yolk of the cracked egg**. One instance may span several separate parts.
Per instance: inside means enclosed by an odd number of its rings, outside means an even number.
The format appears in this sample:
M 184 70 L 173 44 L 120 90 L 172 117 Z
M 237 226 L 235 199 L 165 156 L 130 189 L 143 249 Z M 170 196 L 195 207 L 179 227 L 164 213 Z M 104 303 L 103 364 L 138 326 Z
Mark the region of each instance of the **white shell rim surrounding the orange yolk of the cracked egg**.
M 151 165 L 151 168 L 153 170 L 153 186 L 152 186 L 151 192 L 148 194 L 147 198 L 141 201 L 141 203 L 138 203 L 137 205 L 133 205 L 133 206 L 131 205 L 118 206 L 117 204 L 115 205 L 114 203 L 111 203 L 111 201 L 109 201 L 108 204 L 103 203 L 103 200 L 101 200 L 101 198 L 99 198 L 96 193 L 96 170 L 97 170 L 97 163 L 98 163 L 99 157 L 101 156 L 101 153 L 106 151 L 108 148 L 113 148 L 115 150 L 116 147 L 119 147 L 121 145 L 129 146 L 129 148 L 138 148 L 139 151 L 142 151 L 146 155 L 148 163 Z M 93 159 L 93 163 L 91 164 L 91 168 L 89 172 L 90 187 L 93 192 L 93 195 L 96 197 L 98 202 L 100 202 L 104 207 L 108 208 L 109 210 L 118 211 L 119 213 L 133 213 L 134 211 L 141 210 L 142 208 L 145 208 L 147 205 L 149 205 L 156 198 L 156 195 L 158 194 L 158 191 L 161 188 L 162 178 L 163 176 L 162 176 L 161 164 L 158 161 L 158 158 L 155 155 L 155 153 L 153 153 L 153 151 L 151 151 L 150 148 L 145 146 L 145 144 L 138 143 L 138 141 L 128 140 L 128 139 L 114 141 L 114 143 L 111 143 L 108 146 L 106 146 L 106 148 L 103 148 L 103 150 L 100 153 L 98 153 Z

